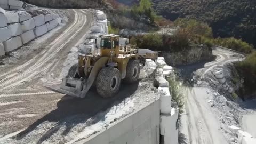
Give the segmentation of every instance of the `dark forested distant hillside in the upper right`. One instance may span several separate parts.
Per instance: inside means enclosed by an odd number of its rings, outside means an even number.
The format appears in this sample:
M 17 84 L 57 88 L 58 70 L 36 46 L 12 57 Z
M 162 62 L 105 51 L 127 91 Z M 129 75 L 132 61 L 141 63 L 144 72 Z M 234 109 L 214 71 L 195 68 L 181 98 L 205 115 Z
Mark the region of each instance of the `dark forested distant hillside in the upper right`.
M 136 0 L 125 4 L 132 4 Z M 242 38 L 256 45 L 256 2 L 251 0 L 153 0 L 154 9 L 172 21 L 193 18 L 209 23 L 214 37 Z

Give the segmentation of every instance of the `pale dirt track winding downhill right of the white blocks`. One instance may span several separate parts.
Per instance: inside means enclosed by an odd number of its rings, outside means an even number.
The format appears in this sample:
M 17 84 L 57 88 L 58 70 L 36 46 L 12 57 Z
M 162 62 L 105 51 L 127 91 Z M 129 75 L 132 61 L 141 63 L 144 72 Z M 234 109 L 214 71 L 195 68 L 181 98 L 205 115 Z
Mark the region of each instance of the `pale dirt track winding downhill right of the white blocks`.
M 183 70 L 191 69 L 195 71 L 198 68 L 203 68 L 202 74 L 205 74 L 212 67 L 229 61 L 241 59 L 241 56 L 234 55 L 235 53 L 229 50 L 215 47 L 213 54 L 217 56 L 215 61 L 209 63 L 199 63 L 198 65 L 190 65 L 183 67 Z M 187 73 L 189 74 L 189 73 Z M 203 87 L 186 87 L 184 89 L 185 108 L 181 115 L 181 143 L 228 143 L 225 136 L 220 131 L 220 123 L 217 116 L 214 115 L 207 99 L 207 89 Z

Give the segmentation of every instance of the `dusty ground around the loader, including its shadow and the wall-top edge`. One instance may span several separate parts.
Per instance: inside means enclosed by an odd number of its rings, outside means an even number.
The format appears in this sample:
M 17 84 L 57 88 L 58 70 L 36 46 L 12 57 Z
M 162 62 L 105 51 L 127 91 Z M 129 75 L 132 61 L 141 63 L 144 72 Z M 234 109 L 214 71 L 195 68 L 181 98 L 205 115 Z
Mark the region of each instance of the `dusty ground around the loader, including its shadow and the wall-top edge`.
M 153 77 L 143 71 L 140 82 L 122 84 L 111 99 L 102 99 L 93 88 L 84 99 L 45 89 L 60 86 L 77 62 L 75 45 L 89 35 L 94 21 L 87 10 L 62 11 L 69 14 L 65 26 L 27 45 L 33 52 L 24 47 L 13 52 L 5 59 L 9 65 L 0 67 L 0 143 L 75 143 L 159 97 Z

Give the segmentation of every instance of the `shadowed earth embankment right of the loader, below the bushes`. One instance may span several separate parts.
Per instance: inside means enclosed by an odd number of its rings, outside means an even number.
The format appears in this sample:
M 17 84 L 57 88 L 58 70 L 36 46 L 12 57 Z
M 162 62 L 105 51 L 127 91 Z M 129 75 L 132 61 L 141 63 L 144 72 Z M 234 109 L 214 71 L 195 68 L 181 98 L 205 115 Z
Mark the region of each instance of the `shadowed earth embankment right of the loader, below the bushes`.
M 179 52 L 162 52 L 160 54 L 170 66 L 187 65 L 200 61 L 211 61 L 214 59 L 212 49 L 205 45 L 191 46 L 190 50 Z

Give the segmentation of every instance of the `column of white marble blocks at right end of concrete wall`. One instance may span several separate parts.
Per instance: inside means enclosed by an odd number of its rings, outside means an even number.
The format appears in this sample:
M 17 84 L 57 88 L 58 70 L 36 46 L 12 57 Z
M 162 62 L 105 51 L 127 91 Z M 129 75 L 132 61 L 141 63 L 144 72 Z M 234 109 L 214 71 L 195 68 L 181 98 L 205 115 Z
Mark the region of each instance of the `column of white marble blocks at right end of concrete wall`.
M 158 57 L 157 60 L 146 59 L 146 72 L 152 74 L 155 71 L 155 81 L 157 83 L 160 97 L 161 121 L 160 134 L 164 144 L 178 144 L 178 115 L 179 109 L 172 108 L 171 93 L 169 90 L 169 82 L 167 77 L 173 72 L 171 66 L 167 66 L 163 57 Z

